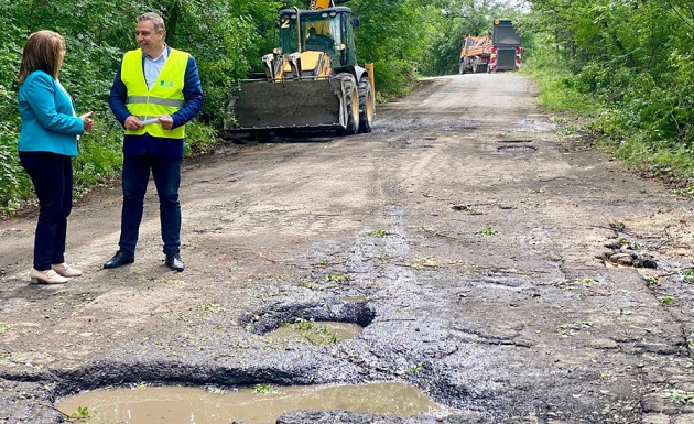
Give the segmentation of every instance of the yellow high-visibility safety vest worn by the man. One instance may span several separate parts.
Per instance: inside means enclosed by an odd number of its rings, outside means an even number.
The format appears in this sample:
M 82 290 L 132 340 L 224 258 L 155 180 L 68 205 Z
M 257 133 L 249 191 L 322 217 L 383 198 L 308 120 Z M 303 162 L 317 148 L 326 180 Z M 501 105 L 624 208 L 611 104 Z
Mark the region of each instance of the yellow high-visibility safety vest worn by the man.
M 142 68 L 142 51 L 140 48 L 126 53 L 120 67 L 120 79 L 128 89 L 126 107 L 130 113 L 141 121 L 161 115 L 173 115 L 183 106 L 183 85 L 188 53 L 172 48 L 156 83 L 150 90 Z M 137 130 L 126 130 L 127 135 L 142 135 L 145 132 L 153 137 L 166 139 L 185 138 L 185 126 L 166 131 L 161 123 L 149 123 Z

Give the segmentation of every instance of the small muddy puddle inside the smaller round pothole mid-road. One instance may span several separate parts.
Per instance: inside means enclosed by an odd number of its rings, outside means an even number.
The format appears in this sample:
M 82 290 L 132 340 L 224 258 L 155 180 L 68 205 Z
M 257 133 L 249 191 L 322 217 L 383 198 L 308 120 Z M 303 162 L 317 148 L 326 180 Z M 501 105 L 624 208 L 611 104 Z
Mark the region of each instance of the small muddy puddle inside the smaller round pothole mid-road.
M 301 320 L 282 325 L 280 328 L 265 334 L 265 337 L 282 341 L 332 345 L 356 337 L 361 330 L 361 326 L 350 323 Z

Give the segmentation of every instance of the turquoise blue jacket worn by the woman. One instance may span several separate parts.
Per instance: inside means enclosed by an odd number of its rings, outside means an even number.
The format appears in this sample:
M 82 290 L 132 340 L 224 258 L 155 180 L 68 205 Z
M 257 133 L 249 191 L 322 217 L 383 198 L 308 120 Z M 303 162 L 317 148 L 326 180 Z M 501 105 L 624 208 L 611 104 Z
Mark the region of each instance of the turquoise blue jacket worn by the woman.
M 77 135 L 85 127 L 75 117 L 72 97 L 51 75 L 43 70 L 29 74 L 19 89 L 19 151 L 77 155 Z

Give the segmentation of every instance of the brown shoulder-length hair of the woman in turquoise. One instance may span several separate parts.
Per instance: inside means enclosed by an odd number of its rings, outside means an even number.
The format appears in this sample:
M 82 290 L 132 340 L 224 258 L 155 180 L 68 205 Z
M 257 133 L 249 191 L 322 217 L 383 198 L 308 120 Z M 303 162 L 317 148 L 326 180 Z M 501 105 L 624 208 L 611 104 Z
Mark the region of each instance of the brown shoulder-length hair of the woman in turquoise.
M 19 83 L 24 83 L 34 70 L 43 70 L 57 79 L 64 53 L 65 41 L 61 34 L 46 30 L 34 32 L 24 44 Z

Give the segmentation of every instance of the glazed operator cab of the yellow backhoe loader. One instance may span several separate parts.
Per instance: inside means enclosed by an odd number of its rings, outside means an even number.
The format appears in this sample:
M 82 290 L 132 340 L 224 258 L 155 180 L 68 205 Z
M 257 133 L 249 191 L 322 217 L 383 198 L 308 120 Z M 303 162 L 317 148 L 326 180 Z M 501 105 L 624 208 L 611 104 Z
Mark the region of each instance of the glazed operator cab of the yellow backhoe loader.
M 357 53 L 351 10 L 337 7 L 319 10 L 285 9 L 280 12 L 279 54 L 318 51 L 330 57 L 333 68 L 355 65 Z

